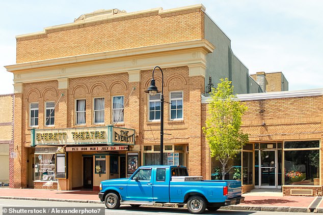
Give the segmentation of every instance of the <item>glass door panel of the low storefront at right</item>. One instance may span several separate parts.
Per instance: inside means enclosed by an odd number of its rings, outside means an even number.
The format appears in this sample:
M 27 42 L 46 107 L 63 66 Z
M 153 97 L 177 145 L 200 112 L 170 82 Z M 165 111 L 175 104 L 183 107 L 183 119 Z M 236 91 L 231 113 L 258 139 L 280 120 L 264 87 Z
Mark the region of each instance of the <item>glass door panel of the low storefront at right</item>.
M 277 188 L 277 150 L 260 150 L 259 187 Z

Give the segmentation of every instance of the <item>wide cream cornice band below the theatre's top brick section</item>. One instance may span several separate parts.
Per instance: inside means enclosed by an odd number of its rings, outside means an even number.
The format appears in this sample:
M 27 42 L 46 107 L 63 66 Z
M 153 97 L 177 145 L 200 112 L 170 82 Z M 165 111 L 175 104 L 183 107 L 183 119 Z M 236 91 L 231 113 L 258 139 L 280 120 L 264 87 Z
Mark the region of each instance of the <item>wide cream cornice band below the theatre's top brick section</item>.
M 128 73 L 129 81 L 139 81 L 138 72 L 152 69 L 199 65 L 206 67 L 206 54 L 215 47 L 207 40 L 194 40 L 174 44 L 134 48 L 72 57 L 40 60 L 6 66 L 14 73 L 14 83 L 62 80 L 60 88 L 66 88 L 68 78 Z M 200 74 L 203 76 L 203 74 Z M 204 74 L 205 75 L 205 74 Z M 64 81 L 63 81 L 64 80 Z M 18 85 L 17 85 L 18 86 Z M 21 92 L 17 90 L 16 92 Z

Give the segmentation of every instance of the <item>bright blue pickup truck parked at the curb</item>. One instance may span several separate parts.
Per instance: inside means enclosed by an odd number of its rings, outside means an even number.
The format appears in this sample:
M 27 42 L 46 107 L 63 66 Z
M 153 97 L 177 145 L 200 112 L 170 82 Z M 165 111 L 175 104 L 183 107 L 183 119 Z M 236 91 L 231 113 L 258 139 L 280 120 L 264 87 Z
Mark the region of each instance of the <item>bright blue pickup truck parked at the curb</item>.
M 138 207 L 142 204 L 187 204 L 191 213 L 215 211 L 221 206 L 239 204 L 241 181 L 202 180 L 189 176 L 184 166 L 141 166 L 129 178 L 104 180 L 99 198 L 109 209 L 120 204 Z

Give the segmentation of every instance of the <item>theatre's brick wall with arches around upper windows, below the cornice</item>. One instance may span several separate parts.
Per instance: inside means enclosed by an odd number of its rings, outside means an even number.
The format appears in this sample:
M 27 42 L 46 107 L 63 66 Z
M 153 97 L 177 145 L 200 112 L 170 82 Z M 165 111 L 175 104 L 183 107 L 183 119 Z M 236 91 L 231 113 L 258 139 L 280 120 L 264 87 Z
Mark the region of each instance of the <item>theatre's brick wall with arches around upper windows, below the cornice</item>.
M 205 145 L 201 145 L 201 90 L 204 89 L 204 78 L 189 77 L 188 67 L 165 68 L 164 73 L 164 144 L 189 144 L 189 162 L 194 163 L 197 159 L 198 166 L 191 165 L 192 174 L 207 174 L 208 156 L 205 155 Z M 59 90 L 57 81 L 35 82 L 24 84 L 23 94 L 18 94 L 16 99 L 17 110 L 15 117 L 20 117 L 21 127 L 17 128 L 15 136 L 19 151 L 24 148 L 25 153 L 19 154 L 17 168 L 25 169 L 29 153 L 33 153 L 31 144 L 31 132 L 29 128 L 29 106 L 32 102 L 39 103 L 39 129 L 43 128 L 76 128 L 107 126 L 112 121 L 112 97 L 124 96 L 124 122 L 117 126 L 136 130 L 136 145 L 140 148 L 145 144 L 160 144 L 159 122 L 148 122 L 148 95 L 144 93 L 152 77 L 152 71 L 141 71 L 140 82 L 128 82 L 127 73 L 109 74 L 91 77 L 79 77 L 69 79 L 68 89 Z M 155 71 L 156 85 L 161 89 L 162 77 L 159 71 Z M 134 89 L 133 89 L 134 88 Z M 133 90 L 132 90 L 133 89 Z M 183 91 L 183 120 L 169 120 L 169 103 L 171 91 Z M 131 93 L 132 91 L 132 93 Z M 64 96 L 61 97 L 61 94 Z M 93 122 L 93 99 L 105 98 L 104 124 L 95 125 Z M 130 98 L 129 98 L 130 97 Z M 128 103 L 126 104 L 127 99 Z M 75 100 L 86 99 L 86 125 L 75 125 Z M 46 127 L 45 123 L 45 102 L 54 101 L 58 105 L 55 109 L 55 126 Z M 21 111 L 18 111 L 20 108 Z M 18 126 L 17 126 L 18 127 Z M 18 139 L 21 141 L 18 141 Z M 19 143 L 18 143 L 19 142 Z M 26 146 L 26 147 L 23 147 Z M 201 153 L 203 154 L 201 156 Z M 18 162 L 15 161 L 16 163 Z M 16 187 L 25 185 L 26 174 L 19 171 L 15 174 L 15 180 L 21 180 L 23 185 L 16 182 Z M 22 182 L 23 181 L 23 182 Z

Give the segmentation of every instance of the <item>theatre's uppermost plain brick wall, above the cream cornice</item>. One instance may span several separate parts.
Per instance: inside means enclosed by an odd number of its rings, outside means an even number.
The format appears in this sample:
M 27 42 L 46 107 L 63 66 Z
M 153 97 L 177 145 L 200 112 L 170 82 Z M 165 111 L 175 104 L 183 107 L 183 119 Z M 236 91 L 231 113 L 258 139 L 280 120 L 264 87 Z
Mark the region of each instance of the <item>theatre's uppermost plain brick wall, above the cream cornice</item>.
M 48 29 L 17 38 L 17 63 L 124 50 L 204 38 L 204 13 L 189 9 L 159 15 L 147 12 Z

